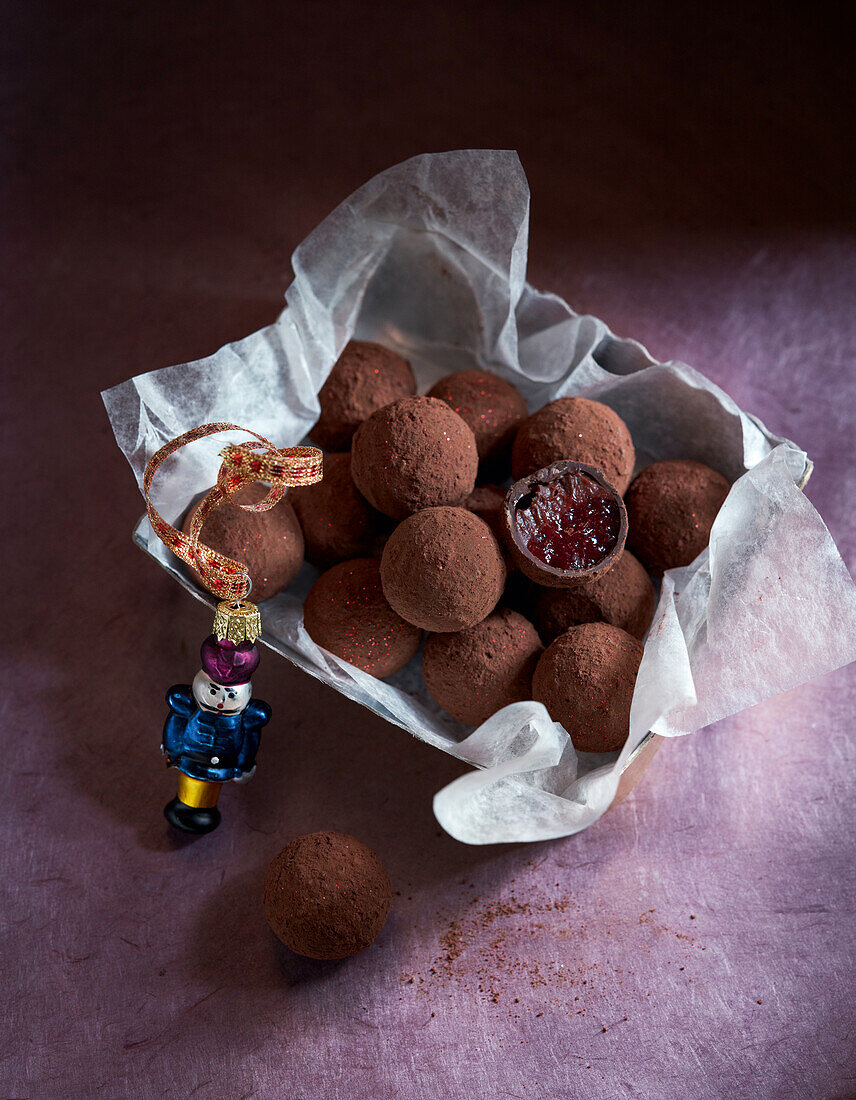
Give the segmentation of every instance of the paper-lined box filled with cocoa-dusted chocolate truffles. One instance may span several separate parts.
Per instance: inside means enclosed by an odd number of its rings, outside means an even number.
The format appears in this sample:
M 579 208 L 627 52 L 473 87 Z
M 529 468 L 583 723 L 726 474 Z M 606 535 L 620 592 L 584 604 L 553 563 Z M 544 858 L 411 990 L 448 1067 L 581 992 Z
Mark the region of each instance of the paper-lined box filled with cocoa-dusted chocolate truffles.
M 298 246 L 270 327 L 103 394 L 139 484 L 204 422 L 323 449 L 320 484 L 202 540 L 246 562 L 271 649 L 472 765 L 434 805 L 470 844 L 586 828 L 667 738 L 856 658 L 806 454 L 529 286 L 528 217 L 516 154 L 414 157 Z M 171 522 L 226 441 L 171 460 Z

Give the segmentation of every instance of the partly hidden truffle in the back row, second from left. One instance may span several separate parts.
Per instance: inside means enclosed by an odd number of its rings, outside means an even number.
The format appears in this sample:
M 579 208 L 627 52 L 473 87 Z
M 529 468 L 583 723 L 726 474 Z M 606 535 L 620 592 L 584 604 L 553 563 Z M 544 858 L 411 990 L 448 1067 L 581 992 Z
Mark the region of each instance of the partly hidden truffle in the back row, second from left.
M 529 411 L 511 382 L 492 371 L 447 374 L 428 395 L 446 402 L 470 426 L 483 461 L 498 460 L 508 451 L 518 425 Z

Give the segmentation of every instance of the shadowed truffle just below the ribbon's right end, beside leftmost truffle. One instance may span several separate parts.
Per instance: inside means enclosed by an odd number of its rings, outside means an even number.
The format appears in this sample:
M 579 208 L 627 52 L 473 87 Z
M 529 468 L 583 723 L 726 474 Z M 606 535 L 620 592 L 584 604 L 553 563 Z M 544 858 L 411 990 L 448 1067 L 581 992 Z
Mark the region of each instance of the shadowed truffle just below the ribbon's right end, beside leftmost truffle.
M 380 554 L 386 517 L 369 504 L 351 477 L 351 455 L 325 454 L 323 481 L 288 491 L 288 499 L 300 520 L 306 558 L 327 569 L 348 558 Z

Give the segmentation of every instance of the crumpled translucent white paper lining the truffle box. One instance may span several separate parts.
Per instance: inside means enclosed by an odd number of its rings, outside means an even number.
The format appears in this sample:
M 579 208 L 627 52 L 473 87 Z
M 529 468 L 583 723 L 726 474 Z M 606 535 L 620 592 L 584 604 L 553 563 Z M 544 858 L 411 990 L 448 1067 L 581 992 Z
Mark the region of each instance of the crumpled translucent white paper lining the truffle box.
M 240 424 L 279 447 L 300 442 L 318 416 L 318 391 L 355 337 L 409 359 L 421 393 L 440 375 L 478 364 L 512 381 L 533 410 L 583 394 L 624 417 L 639 466 L 696 459 L 733 481 L 709 549 L 663 580 L 619 754 L 575 752 L 535 702 L 507 706 L 475 730 L 461 726 L 428 696 L 419 656 L 381 681 L 319 649 L 303 626 L 303 601 L 317 576 L 308 564 L 263 605 L 263 641 L 272 649 L 474 766 L 435 798 L 443 828 L 470 844 L 579 832 L 610 806 L 650 730 L 692 733 L 856 658 L 856 586 L 799 487 L 811 470 L 805 453 L 698 371 L 657 363 L 640 344 L 530 287 L 528 215 L 515 153 L 414 157 L 361 187 L 299 245 L 273 324 L 208 359 L 103 394 L 142 483 L 158 447 L 207 421 Z M 213 482 L 224 442 L 200 441 L 158 474 L 155 503 L 167 519 Z M 212 603 L 145 518 L 135 538 Z

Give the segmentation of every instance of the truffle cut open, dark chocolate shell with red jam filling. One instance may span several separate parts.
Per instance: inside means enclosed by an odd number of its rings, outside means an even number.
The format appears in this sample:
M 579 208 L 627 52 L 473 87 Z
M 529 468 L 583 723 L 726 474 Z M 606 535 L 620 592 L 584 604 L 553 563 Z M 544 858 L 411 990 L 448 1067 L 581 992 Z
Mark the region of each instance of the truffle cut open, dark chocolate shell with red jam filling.
M 522 573 L 566 588 L 612 569 L 624 549 L 627 512 L 600 470 L 553 462 L 508 490 L 503 532 Z

